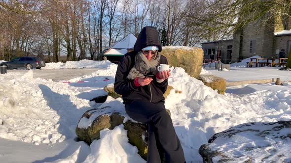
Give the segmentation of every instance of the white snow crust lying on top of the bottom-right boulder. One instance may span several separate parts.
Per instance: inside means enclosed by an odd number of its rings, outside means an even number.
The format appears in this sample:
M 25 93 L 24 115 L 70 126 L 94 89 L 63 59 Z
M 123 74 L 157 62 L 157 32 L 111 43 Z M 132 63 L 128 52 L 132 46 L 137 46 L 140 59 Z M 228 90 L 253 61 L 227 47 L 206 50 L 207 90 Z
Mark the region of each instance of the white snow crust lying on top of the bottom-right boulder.
M 279 129 L 281 127 L 280 124 L 263 122 L 238 125 L 219 133 L 218 138 L 210 144 L 210 147 L 212 150 L 219 150 L 224 155 L 233 158 L 232 162 L 236 163 L 248 161 L 252 157 L 255 158 L 253 159 L 255 162 L 264 160 L 266 163 L 271 163 L 276 160 L 278 163 L 290 163 L 291 158 L 288 153 L 291 151 L 291 138 L 287 137 L 290 128 Z M 237 150 L 234 151 L 233 148 Z M 277 150 L 278 148 L 280 150 Z M 220 158 L 217 157 L 214 162 L 219 160 Z

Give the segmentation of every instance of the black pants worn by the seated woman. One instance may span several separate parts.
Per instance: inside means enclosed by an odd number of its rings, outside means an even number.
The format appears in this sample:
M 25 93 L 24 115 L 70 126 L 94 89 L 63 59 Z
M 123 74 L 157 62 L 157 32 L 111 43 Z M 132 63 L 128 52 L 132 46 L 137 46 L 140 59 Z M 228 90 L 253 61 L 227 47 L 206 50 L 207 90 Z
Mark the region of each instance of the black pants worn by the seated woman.
M 164 103 L 132 101 L 125 103 L 126 113 L 134 120 L 148 124 L 147 163 L 184 163 L 184 153 L 172 119 Z

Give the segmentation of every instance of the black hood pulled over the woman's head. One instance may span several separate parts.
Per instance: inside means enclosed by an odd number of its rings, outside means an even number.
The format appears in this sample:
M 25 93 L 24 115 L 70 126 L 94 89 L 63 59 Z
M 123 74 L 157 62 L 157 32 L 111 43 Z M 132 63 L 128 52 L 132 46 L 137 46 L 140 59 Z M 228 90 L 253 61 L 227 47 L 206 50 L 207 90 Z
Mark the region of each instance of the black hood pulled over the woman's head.
M 147 46 L 157 46 L 159 48 L 158 52 L 162 51 L 159 33 L 155 27 L 143 27 L 134 44 L 134 51 L 139 52 Z

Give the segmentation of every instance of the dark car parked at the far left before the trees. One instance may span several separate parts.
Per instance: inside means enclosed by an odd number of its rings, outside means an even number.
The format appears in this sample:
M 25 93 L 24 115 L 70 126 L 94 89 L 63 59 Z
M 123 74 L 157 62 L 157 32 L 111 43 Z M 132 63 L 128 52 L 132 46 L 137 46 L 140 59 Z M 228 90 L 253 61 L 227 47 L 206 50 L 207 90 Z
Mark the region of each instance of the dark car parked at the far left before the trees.
M 40 69 L 41 67 L 45 67 L 45 63 L 35 56 L 23 56 L 16 57 L 10 61 L 1 62 L 0 66 L 6 66 L 7 69 L 26 68 L 30 70 L 33 68 Z

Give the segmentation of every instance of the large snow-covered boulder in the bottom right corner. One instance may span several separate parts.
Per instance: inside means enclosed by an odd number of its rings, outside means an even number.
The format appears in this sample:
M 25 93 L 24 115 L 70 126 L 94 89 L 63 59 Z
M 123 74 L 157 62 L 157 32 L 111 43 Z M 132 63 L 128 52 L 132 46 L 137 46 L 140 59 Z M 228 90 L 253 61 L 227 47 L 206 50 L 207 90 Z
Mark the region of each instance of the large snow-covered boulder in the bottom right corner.
M 204 163 L 290 163 L 291 121 L 245 123 L 199 148 Z

